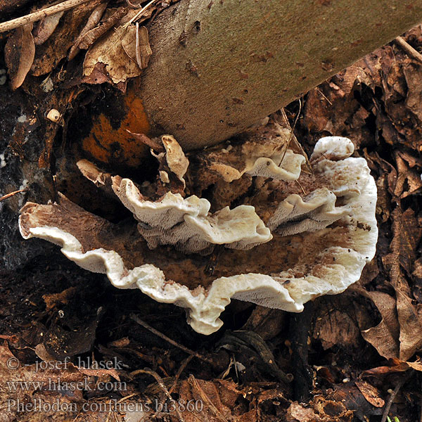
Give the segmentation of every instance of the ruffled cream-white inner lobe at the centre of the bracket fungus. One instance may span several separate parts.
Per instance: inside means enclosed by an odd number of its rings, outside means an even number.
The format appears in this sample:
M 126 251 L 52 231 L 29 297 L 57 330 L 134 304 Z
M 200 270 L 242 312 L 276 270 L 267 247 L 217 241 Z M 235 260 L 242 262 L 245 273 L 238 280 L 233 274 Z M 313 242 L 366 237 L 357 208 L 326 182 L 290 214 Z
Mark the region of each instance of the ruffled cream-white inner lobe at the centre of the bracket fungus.
M 138 229 L 149 248 L 175 245 L 178 250 L 196 253 L 211 245 L 250 249 L 271 241 L 271 232 L 250 205 L 210 214 L 210 203 L 198 196 L 184 199 L 167 192 L 158 201 L 144 200 L 130 179 L 113 178 L 115 193 L 139 221 Z M 120 183 L 119 183 L 120 182 Z

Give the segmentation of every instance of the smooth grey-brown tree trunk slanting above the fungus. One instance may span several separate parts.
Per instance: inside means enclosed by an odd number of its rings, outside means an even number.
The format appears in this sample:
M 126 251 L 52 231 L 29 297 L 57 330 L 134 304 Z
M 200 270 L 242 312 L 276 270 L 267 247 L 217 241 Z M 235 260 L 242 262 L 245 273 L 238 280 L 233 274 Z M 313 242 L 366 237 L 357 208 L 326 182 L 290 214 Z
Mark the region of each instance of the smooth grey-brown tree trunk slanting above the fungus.
M 218 143 L 421 19 L 422 0 L 182 0 L 149 25 L 151 132 Z

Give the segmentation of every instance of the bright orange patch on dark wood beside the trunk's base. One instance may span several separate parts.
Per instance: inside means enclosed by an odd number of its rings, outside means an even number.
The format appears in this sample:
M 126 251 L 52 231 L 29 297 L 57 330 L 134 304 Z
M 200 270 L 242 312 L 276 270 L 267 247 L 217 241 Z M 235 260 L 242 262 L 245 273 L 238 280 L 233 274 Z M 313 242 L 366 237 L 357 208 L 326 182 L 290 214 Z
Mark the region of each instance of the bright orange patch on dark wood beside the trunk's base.
M 94 160 L 113 165 L 137 167 L 149 155 L 149 148 L 127 132 L 147 134 L 150 129 L 141 98 L 128 91 L 124 96 L 126 114 L 115 128 L 105 114 L 95 118 L 91 132 L 82 141 L 82 149 Z

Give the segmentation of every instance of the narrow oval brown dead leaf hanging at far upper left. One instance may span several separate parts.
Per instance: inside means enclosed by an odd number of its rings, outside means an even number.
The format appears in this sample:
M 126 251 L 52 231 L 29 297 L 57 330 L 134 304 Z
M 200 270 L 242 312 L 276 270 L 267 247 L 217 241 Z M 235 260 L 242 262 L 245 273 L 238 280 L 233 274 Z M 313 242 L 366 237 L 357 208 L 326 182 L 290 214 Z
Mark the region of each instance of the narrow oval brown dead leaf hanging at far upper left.
M 17 89 L 23 84 L 30 71 L 35 56 L 32 23 L 18 27 L 8 38 L 4 48 L 4 59 L 11 78 L 11 88 Z

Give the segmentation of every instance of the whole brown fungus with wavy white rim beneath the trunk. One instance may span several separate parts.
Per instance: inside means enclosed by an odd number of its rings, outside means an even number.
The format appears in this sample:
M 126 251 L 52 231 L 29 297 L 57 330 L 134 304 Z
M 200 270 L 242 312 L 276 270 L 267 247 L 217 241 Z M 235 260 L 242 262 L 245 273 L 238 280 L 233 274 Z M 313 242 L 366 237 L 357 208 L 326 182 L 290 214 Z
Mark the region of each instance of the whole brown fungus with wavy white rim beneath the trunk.
M 160 171 L 169 181 L 157 177 L 155 195 L 151 186 L 148 196 L 142 184 L 79 163 L 132 212 L 133 224 L 113 224 L 60 196 L 23 207 L 22 236 L 60 245 L 118 288 L 186 308 L 188 323 L 203 334 L 222 326 L 231 298 L 300 312 L 308 300 L 359 280 L 375 255 L 376 184 L 366 160 L 350 157 L 349 139 L 320 139 L 307 172 L 305 156 L 288 148 L 290 131 L 274 117 L 231 148 L 186 157 L 174 142 L 163 142 Z M 159 195 L 163 186 L 168 191 Z M 208 198 L 200 198 L 205 191 Z M 215 245 L 224 250 L 210 274 L 204 270 Z

